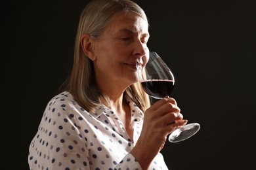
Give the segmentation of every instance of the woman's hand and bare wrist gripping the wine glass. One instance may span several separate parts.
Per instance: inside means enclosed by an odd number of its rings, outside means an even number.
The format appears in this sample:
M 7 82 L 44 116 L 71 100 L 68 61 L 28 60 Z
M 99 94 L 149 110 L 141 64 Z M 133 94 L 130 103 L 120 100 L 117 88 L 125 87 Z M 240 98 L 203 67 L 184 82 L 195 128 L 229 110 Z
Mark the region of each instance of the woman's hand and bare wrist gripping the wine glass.
M 188 120 L 183 120 L 175 99 L 160 99 L 144 112 L 142 131 L 131 154 L 140 164 L 147 164 L 163 148 L 167 135 L 187 122 Z

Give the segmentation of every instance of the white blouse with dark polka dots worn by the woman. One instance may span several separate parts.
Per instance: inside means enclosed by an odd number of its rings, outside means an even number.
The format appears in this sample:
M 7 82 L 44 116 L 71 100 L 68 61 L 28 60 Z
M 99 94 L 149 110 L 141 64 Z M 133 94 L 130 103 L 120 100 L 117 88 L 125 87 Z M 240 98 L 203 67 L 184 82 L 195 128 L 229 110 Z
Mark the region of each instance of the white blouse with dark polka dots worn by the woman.
M 30 144 L 30 169 L 141 169 L 129 152 L 139 138 L 143 114 L 131 99 L 126 100 L 133 142 L 117 114 L 104 105 L 89 113 L 68 92 L 53 97 Z M 150 169 L 167 169 L 161 153 Z

